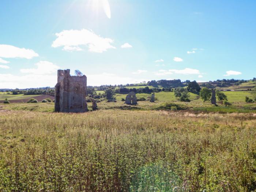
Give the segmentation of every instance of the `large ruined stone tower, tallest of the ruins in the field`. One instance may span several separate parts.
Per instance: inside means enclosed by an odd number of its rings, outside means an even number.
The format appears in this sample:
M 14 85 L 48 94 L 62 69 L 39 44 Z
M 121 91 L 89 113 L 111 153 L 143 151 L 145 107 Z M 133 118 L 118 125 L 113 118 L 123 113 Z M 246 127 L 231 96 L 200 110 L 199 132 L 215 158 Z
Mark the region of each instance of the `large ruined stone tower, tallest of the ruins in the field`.
M 58 82 L 55 86 L 54 108 L 56 112 L 86 112 L 87 78 L 71 76 L 70 69 L 58 70 Z

